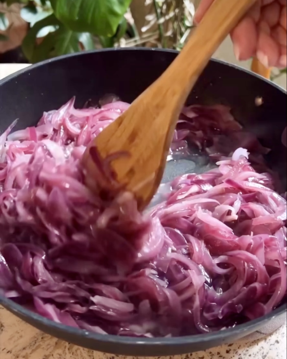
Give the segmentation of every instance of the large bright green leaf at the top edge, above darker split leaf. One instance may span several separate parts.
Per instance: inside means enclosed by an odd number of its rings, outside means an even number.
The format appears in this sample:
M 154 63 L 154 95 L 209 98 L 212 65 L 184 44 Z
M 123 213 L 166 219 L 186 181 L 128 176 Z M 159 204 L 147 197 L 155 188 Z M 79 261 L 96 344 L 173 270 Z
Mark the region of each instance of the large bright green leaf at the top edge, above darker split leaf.
M 113 36 L 131 0 L 51 0 L 55 16 L 68 28 Z

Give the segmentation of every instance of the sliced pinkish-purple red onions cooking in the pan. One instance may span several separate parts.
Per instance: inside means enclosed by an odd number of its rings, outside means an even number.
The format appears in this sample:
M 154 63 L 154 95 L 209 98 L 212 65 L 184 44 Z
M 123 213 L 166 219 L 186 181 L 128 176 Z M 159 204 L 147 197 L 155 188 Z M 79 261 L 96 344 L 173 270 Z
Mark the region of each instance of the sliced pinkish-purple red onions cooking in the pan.
M 9 133 L 13 123 L 0 136 L 6 297 L 66 325 L 146 337 L 232 327 L 286 301 L 286 199 L 251 167 L 268 150 L 229 109 L 183 109 L 171 155 L 196 146 L 217 167 L 176 178 L 146 213 L 128 193 L 90 193 L 81 156 L 127 108 L 79 110 L 71 99 L 36 127 Z M 94 157 L 114 181 L 112 158 Z

